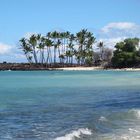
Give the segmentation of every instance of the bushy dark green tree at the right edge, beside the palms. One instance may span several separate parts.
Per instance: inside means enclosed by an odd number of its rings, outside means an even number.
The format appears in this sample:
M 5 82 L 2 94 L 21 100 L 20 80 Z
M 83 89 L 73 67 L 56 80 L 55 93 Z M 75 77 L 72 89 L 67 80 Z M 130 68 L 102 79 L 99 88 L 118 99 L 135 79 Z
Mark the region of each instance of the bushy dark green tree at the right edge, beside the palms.
M 140 65 L 138 38 L 128 38 L 115 45 L 112 57 L 113 67 L 134 67 Z

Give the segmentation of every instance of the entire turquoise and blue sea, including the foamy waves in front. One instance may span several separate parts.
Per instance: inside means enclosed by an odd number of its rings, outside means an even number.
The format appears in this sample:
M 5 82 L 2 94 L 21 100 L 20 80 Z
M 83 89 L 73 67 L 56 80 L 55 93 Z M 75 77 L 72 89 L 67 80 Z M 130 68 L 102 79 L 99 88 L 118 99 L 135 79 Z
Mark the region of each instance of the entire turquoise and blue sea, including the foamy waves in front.
M 0 140 L 139 140 L 140 72 L 0 72 Z

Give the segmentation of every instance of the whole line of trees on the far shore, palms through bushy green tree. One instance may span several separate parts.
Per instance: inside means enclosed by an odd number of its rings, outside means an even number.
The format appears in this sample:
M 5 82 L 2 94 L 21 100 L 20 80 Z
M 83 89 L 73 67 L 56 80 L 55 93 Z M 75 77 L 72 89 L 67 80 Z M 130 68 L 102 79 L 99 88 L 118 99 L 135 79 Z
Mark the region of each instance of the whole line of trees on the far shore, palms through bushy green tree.
M 97 42 L 93 33 L 82 29 L 70 32 L 48 32 L 46 36 L 32 34 L 20 40 L 30 64 L 130 67 L 140 64 L 139 39 L 126 39 L 115 45 L 115 51 Z M 96 49 L 95 49 L 96 48 Z

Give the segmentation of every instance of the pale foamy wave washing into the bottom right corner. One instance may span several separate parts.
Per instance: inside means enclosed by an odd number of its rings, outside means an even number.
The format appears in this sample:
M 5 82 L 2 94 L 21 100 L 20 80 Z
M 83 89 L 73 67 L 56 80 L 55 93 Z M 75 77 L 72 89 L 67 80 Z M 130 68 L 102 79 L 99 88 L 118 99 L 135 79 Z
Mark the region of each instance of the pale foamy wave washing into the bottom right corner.
M 101 116 L 99 121 L 114 121 L 118 123 L 118 128 L 113 133 L 104 133 L 98 136 L 101 140 L 140 140 L 140 109 L 130 109 L 124 112 L 112 113 L 107 118 Z M 128 122 L 128 123 L 127 123 Z M 124 124 L 123 124 L 124 123 Z

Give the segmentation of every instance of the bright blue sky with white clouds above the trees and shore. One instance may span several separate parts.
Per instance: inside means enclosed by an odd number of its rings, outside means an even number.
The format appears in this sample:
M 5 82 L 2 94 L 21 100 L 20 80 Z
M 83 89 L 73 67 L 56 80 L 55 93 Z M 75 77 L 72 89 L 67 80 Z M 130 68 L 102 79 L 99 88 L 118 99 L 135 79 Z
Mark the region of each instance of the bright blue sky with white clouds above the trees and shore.
M 92 31 L 113 45 L 140 37 L 140 0 L 0 0 L 0 62 L 26 62 L 18 41 L 31 33 Z

